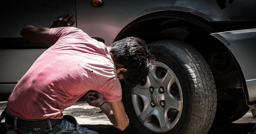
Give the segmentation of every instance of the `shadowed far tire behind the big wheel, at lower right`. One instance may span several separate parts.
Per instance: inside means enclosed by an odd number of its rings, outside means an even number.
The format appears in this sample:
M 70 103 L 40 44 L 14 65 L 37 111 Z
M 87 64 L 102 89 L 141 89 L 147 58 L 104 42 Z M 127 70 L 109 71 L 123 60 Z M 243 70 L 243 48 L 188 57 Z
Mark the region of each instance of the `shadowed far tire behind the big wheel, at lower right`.
M 219 100 L 214 124 L 227 124 L 242 118 L 250 108 L 245 99 Z

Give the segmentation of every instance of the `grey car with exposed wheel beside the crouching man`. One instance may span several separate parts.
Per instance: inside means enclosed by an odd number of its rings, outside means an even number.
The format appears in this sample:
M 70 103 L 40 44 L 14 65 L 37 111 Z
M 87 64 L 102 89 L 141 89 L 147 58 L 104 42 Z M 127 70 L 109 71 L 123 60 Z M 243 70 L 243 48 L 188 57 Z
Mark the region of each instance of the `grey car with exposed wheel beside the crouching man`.
M 136 36 L 156 61 L 139 85 L 122 86 L 136 134 L 206 134 L 251 109 L 256 116 L 256 1 L 19 0 L 1 5 L 0 94 L 8 95 L 49 46 L 20 36 L 73 14 L 74 27 L 110 46 Z M 54 60 L 54 57 L 52 58 Z M 38 68 L 40 69 L 40 68 Z

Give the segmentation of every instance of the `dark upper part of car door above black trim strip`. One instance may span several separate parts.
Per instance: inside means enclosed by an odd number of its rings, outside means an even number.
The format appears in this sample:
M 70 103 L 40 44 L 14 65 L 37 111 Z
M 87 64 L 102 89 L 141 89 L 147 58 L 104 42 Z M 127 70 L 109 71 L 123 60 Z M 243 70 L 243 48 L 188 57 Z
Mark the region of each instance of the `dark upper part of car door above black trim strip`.
M 74 0 L 19 0 L 1 4 L 0 38 L 21 37 L 20 30 L 27 25 L 50 27 L 53 19 L 64 13 L 75 15 Z M 75 17 L 74 17 L 75 18 Z M 76 27 L 76 24 L 74 25 Z

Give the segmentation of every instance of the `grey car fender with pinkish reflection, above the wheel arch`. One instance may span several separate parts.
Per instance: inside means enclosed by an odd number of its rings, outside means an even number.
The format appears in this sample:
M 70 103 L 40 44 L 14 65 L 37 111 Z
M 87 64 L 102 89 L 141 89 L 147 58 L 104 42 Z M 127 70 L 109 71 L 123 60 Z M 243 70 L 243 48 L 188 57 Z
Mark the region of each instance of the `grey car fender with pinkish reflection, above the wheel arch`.
M 92 37 L 102 38 L 109 46 L 124 27 L 146 14 L 181 11 L 201 16 L 207 21 L 255 21 L 256 14 L 252 13 L 256 13 L 256 10 L 251 4 L 256 5 L 256 1 L 240 0 L 230 4 L 224 1 L 224 8 L 221 9 L 216 0 L 109 0 L 104 1 L 101 7 L 93 7 L 88 1 L 76 0 L 77 27 Z M 244 8 L 247 10 L 244 11 Z

